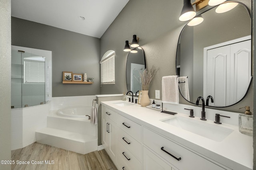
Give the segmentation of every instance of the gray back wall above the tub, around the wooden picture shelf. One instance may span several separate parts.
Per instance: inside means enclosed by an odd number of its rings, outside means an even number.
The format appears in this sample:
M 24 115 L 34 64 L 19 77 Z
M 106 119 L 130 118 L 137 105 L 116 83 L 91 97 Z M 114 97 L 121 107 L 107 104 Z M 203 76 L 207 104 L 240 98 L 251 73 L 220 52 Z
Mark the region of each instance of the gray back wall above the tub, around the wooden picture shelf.
M 52 51 L 52 97 L 100 94 L 100 39 L 12 17 L 12 45 Z M 94 84 L 62 84 L 62 71 Z

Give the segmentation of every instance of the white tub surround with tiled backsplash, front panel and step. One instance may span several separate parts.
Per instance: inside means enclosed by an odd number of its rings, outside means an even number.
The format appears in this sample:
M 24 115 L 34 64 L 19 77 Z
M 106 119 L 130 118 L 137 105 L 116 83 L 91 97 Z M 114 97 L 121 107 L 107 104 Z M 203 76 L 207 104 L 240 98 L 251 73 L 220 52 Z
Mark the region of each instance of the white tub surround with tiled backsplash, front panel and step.
M 91 107 L 96 96 L 54 97 L 50 102 L 47 127 L 36 131 L 36 141 L 54 147 L 86 154 L 98 149 L 97 125 L 90 120 L 62 117 L 58 109 L 68 107 Z M 84 115 L 90 115 L 85 113 Z

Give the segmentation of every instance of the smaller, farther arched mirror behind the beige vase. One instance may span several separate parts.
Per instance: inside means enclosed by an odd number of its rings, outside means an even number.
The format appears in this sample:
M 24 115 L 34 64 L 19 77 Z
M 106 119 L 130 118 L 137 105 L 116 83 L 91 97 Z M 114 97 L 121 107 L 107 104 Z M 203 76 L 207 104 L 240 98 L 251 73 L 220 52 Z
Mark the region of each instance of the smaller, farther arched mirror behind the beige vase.
M 138 53 L 129 52 L 126 62 L 127 90 L 134 92 L 141 90 L 140 72 L 146 68 L 146 59 L 141 47 L 136 48 Z

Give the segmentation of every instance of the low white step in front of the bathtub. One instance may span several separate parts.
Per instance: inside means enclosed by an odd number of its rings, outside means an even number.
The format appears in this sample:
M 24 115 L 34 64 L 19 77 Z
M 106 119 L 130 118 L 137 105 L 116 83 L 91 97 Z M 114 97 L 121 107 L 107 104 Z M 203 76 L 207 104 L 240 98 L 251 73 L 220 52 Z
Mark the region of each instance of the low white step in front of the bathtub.
M 93 152 L 98 147 L 95 136 L 50 127 L 36 131 L 36 141 L 80 154 Z

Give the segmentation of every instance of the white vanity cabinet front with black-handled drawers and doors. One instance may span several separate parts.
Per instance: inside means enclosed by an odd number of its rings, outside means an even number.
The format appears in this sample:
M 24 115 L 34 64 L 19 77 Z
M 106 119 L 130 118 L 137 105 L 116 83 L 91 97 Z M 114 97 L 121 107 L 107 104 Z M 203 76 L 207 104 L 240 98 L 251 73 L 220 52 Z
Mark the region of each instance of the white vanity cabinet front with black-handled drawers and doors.
M 231 170 L 106 106 L 102 106 L 102 145 L 118 170 Z

